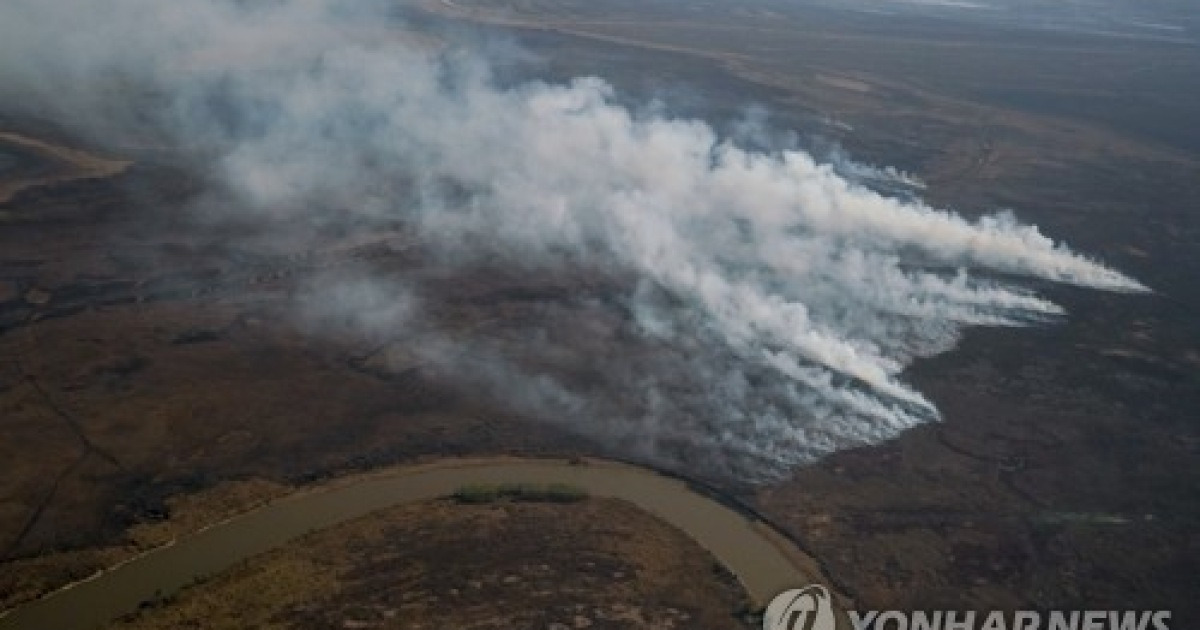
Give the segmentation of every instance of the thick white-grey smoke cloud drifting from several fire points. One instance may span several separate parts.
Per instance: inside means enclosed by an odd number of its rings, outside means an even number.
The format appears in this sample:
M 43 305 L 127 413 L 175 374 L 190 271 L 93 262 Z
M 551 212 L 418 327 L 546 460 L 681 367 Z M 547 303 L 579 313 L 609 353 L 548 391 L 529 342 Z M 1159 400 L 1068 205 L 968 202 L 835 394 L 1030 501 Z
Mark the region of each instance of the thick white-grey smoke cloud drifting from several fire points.
M 512 358 L 511 340 L 464 349 L 421 314 L 428 298 L 389 288 L 404 278 L 370 274 L 314 278 L 305 304 L 319 313 L 300 319 L 320 330 L 341 308 L 373 337 L 420 328 L 422 360 L 647 451 L 712 450 L 767 475 L 887 439 L 938 416 L 902 378 L 914 358 L 965 326 L 1063 314 L 1016 278 L 1144 290 L 1010 214 L 967 221 L 864 185 L 919 185 L 893 169 L 746 149 L 619 106 L 598 78 L 498 86 L 478 56 L 406 34 L 370 2 L 10 0 L 0 12 L 7 109 L 114 146 L 169 143 L 245 216 L 335 208 L 400 221 L 448 268 L 631 278 L 622 312 L 654 353 L 527 340 L 527 355 L 545 344 L 539 362 Z M 556 372 L 587 366 L 602 372 L 590 385 Z

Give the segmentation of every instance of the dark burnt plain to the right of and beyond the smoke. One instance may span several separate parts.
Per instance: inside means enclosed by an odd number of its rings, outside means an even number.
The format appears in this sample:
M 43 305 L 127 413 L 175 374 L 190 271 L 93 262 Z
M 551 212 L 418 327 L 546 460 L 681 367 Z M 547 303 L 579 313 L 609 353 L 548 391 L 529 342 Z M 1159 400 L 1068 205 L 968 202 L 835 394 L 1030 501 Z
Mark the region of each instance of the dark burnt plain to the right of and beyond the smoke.
M 563 76 L 707 83 L 697 113 L 716 119 L 763 103 L 784 127 L 816 126 L 858 160 L 914 173 L 936 205 L 1014 208 L 1154 288 L 1045 289 L 1067 305 L 1063 324 L 970 331 L 911 370 L 944 422 L 797 470 L 758 504 L 864 607 L 1198 618 L 1194 48 L 785 2 L 422 6 L 517 29 Z M 643 55 L 658 61 L 649 79 L 622 70 Z

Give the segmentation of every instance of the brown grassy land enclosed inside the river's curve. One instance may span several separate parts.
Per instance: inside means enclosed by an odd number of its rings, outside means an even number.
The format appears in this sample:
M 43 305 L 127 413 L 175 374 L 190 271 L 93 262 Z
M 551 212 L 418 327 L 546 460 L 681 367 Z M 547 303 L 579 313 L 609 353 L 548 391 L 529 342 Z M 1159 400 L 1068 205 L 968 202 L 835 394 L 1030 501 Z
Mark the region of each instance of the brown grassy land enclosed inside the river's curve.
M 109 628 L 752 628 L 744 610 L 712 556 L 624 502 L 444 500 L 310 534 Z

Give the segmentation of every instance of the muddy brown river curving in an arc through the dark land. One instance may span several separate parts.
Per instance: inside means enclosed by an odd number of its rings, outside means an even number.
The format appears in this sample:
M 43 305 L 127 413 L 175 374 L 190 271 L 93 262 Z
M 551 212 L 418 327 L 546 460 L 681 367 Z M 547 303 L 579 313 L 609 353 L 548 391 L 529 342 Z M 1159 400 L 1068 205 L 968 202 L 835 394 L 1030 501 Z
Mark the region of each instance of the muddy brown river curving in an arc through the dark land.
M 751 599 L 814 582 L 804 556 L 781 535 L 684 481 L 634 466 L 548 460 L 448 461 L 334 482 L 271 502 L 0 617 L 0 630 L 96 628 L 145 600 L 283 545 L 307 532 L 390 505 L 451 494 L 472 484 L 570 484 L 592 496 L 624 499 L 673 524 L 728 568 Z

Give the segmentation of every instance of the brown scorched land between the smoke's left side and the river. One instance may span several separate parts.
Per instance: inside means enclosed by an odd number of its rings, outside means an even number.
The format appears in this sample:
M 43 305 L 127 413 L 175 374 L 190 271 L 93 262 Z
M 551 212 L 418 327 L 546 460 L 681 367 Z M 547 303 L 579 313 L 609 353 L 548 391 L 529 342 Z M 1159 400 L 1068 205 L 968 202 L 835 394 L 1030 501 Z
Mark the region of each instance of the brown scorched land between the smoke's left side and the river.
M 204 506 L 184 516 L 194 529 L 296 484 L 420 456 L 580 448 L 457 395 L 400 362 L 395 344 L 313 346 L 272 325 L 293 305 L 294 274 L 398 258 L 386 244 L 230 264 L 220 245 L 197 251 L 148 224 L 136 194 L 161 192 L 142 182 L 178 175 L 140 168 L 29 188 L 5 206 L 6 602 L 143 548 L 126 530 L 175 516 L 172 497 L 200 492 Z

